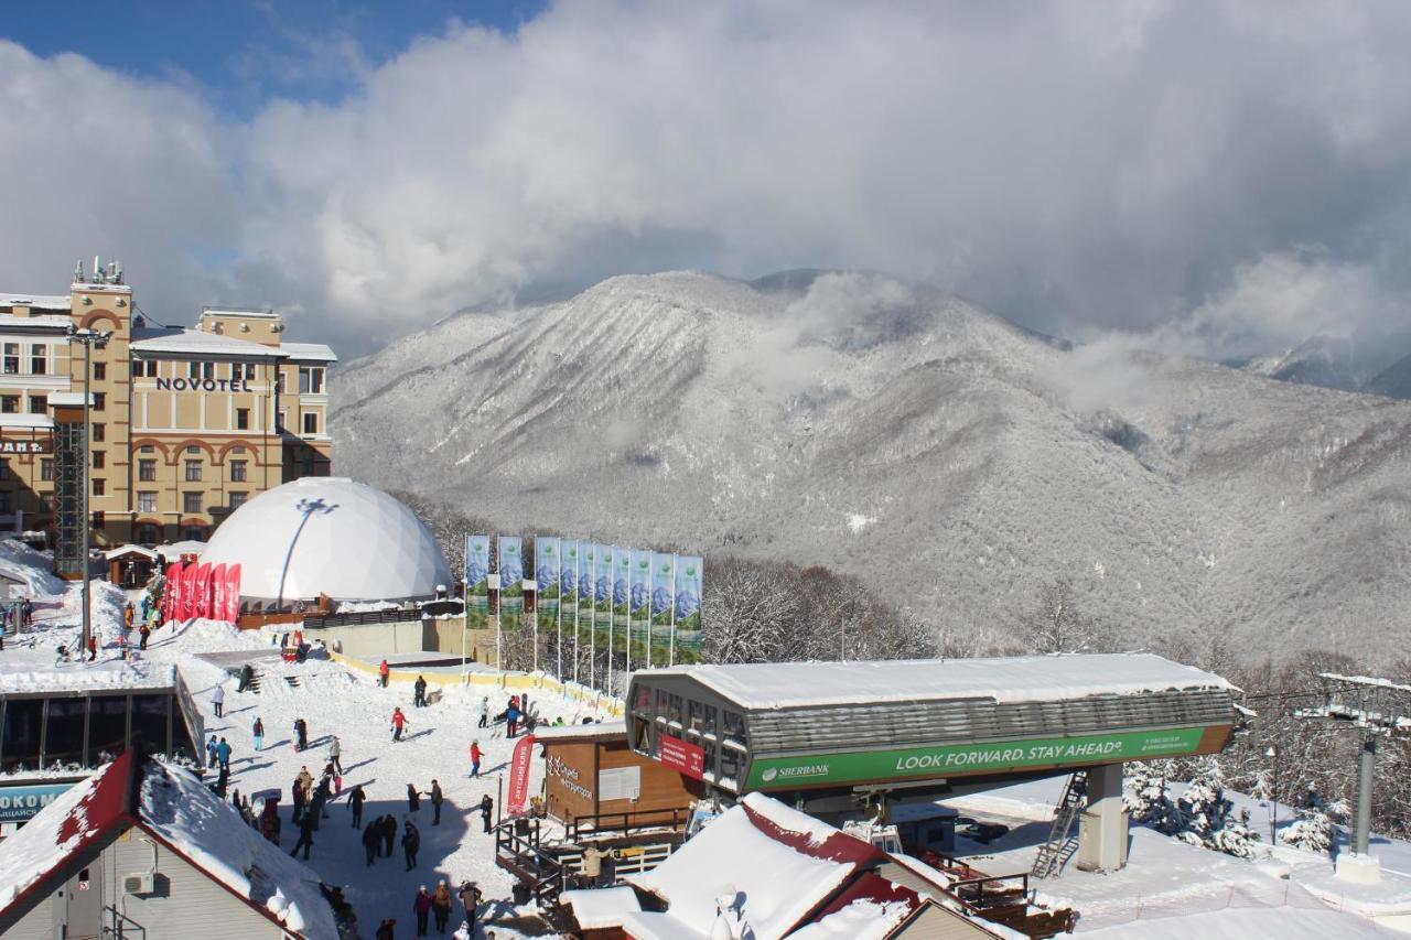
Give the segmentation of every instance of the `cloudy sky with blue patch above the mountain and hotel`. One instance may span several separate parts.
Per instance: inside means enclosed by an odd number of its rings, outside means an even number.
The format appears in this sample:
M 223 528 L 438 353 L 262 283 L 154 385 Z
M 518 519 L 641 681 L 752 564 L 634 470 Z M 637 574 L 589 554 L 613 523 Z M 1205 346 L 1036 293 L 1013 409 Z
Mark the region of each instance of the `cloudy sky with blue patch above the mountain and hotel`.
M 158 320 L 274 305 L 357 354 L 842 267 L 1079 340 L 1411 351 L 1398 0 L 124 7 L 0 20 L 0 289 L 117 255 Z

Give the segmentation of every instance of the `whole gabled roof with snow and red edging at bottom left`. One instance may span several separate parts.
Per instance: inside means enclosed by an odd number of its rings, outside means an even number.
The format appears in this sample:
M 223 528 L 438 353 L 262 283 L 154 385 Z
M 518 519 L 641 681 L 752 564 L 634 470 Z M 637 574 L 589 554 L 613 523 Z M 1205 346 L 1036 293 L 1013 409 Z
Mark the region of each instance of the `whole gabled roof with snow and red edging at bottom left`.
M 137 826 L 234 896 L 306 940 L 337 940 L 319 876 L 246 826 L 192 773 L 133 751 L 55 797 L 0 843 L 0 930 Z

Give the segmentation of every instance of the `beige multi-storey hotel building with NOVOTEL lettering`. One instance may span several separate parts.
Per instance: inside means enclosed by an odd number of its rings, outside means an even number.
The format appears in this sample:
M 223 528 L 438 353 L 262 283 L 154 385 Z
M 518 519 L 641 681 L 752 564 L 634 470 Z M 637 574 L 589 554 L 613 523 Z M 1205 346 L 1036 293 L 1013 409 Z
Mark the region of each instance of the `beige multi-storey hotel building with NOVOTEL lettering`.
M 71 327 L 111 333 L 92 349 L 86 440 Z M 207 306 L 195 326 L 164 326 L 97 258 L 68 294 L 0 292 L 0 535 L 54 534 L 79 454 L 95 545 L 205 541 L 253 495 L 329 474 L 336 361 L 285 343 L 270 309 Z

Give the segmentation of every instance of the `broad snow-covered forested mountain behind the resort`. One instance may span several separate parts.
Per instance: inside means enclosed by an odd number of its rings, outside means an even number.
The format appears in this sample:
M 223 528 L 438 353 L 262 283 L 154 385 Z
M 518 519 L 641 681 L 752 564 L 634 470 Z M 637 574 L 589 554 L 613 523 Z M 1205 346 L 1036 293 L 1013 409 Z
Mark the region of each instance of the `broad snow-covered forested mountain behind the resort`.
M 1068 350 L 886 278 L 612 278 L 333 394 L 340 473 L 509 532 L 823 563 L 952 631 L 1070 577 L 1188 658 L 1411 639 L 1411 404 Z

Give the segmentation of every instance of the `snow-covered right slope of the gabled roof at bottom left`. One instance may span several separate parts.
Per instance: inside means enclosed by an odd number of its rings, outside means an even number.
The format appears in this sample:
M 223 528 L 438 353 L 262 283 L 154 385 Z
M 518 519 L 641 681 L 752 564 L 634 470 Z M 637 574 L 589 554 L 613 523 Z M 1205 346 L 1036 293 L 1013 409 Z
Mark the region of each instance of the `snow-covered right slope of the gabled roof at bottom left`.
M 237 895 L 309 940 L 337 940 L 333 910 L 308 865 L 285 855 L 192 773 L 147 765 L 141 817 L 157 836 Z

